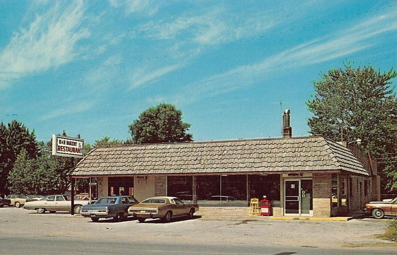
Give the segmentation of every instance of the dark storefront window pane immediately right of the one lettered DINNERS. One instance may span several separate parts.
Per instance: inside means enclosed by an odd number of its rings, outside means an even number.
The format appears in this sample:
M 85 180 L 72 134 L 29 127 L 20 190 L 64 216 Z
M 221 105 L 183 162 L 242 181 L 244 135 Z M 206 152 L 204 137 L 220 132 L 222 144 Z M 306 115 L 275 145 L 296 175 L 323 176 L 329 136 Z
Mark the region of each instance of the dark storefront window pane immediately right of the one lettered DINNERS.
M 220 175 L 197 176 L 197 204 L 199 206 L 221 206 Z

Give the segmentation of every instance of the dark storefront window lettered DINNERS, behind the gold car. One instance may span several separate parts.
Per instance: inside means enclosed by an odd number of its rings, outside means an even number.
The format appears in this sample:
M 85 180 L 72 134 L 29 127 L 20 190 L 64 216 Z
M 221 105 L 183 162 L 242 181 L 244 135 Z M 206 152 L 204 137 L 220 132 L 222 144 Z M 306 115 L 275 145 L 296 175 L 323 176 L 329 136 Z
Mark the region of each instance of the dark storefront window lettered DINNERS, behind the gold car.
M 168 176 L 167 195 L 193 204 L 193 176 Z

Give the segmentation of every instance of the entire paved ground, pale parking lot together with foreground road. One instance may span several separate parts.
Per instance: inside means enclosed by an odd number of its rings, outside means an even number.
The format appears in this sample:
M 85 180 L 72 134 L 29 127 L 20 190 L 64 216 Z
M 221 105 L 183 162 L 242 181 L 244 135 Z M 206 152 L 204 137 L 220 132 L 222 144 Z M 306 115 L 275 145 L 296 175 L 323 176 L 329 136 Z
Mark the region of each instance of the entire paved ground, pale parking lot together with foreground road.
M 4 207 L 0 254 L 397 254 L 396 248 L 379 247 L 382 241 L 374 236 L 384 233 L 387 220 L 260 219 L 94 223 L 68 213 Z

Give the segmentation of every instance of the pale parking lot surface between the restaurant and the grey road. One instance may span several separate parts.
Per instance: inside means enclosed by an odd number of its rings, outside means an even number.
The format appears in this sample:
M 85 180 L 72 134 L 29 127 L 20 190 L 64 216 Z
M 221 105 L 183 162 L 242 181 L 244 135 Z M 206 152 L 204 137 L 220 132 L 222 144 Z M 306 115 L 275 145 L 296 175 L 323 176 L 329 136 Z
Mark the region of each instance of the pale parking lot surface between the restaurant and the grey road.
M 34 250 L 36 241 L 40 243 L 50 239 L 63 240 L 65 244 L 77 241 L 80 244 L 106 243 L 114 240 L 123 245 L 134 242 L 161 245 L 262 245 L 302 249 L 359 248 L 366 251 L 375 249 L 371 251 L 381 254 L 396 253 L 395 244 L 388 244 L 376 237 L 385 232 L 387 219 L 366 218 L 334 222 L 265 220 L 260 216 L 241 220 L 195 217 L 191 220 L 173 219 L 170 223 L 162 223 L 160 220 L 138 223 L 130 217 L 121 222 L 113 222 L 112 219 L 92 222 L 78 214 L 39 214 L 34 210 L 15 207 L 0 208 L 0 215 L 1 246 L 8 249 L 11 249 L 12 242 L 24 240 L 26 243 L 23 246 L 26 248 L 32 245 Z M 47 241 L 45 244 L 48 244 Z M 2 253 L 18 253 L 18 250 L 3 249 Z

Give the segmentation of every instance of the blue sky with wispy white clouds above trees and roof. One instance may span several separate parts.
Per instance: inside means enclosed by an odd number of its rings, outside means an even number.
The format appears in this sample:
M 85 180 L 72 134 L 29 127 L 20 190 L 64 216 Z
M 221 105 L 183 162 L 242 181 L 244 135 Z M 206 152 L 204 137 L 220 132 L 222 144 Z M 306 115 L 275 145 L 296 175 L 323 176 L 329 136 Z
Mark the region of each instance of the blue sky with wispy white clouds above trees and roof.
M 0 121 L 93 144 L 166 102 L 195 140 L 280 137 L 286 108 L 309 135 L 313 81 L 389 70 L 396 32 L 394 0 L 0 0 Z

